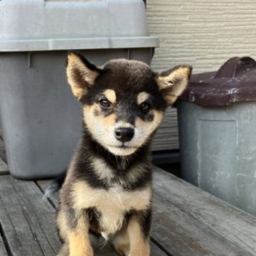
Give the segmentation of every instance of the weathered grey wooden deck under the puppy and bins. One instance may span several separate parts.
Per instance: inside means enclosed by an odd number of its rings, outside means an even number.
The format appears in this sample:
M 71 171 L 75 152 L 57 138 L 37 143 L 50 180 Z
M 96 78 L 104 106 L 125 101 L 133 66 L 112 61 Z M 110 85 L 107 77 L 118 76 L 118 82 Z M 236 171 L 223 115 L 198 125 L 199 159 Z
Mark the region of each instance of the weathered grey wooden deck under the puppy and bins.
M 55 255 L 58 195 L 43 199 L 50 181 L 17 181 L 0 166 L 0 256 Z M 96 256 L 116 256 L 92 243 Z M 154 167 L 151 255 L 255 256 L 256 218 Z

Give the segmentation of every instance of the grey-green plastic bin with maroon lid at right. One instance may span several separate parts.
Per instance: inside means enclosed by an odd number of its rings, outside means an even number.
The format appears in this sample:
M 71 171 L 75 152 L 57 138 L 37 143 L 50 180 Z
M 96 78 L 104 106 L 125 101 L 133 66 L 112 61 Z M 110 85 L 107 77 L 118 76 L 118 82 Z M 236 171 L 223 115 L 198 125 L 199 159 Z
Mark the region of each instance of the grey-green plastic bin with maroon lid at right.
M 182 176 L 256 214 L 256 63 L 193 75 L 178 102 Z

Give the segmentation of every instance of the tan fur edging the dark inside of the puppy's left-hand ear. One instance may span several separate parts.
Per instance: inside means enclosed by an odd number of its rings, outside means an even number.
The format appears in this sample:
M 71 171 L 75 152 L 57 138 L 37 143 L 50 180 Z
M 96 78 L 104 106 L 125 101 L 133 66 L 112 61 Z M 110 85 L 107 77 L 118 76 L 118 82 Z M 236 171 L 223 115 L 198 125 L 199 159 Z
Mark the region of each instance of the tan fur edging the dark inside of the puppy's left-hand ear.
M 85 80 L 88 85 L 92 85 L 99 74 L 87 68 L 77 55 L 73 53 L 68 55 L 68 66 L 66 69 L 68 82 L 73 94 L 80 100 L 82 96 L 86 94 L 87 88 L 84 87 L 82 83 L 74 80 L 74 70 L 79 70 L 81 78 Z

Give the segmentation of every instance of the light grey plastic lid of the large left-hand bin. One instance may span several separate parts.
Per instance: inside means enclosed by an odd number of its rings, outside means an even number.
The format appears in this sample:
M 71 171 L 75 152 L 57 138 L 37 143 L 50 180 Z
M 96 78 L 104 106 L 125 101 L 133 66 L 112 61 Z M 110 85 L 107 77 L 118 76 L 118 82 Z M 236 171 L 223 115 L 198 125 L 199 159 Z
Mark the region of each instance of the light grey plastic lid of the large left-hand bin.
M 142 0 L 0 0 L 0 52 L 154 48 Z

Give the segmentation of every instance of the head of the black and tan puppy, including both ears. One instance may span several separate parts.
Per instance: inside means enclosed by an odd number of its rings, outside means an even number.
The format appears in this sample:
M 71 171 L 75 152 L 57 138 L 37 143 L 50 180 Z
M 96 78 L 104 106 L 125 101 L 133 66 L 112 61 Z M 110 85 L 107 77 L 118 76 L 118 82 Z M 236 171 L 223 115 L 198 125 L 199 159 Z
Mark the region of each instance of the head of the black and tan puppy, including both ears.
M 149 142 L 166 107 L 186 88 L 191 67 L 154 73 L 145 63 L 118 59 L 98 68 L 70 53 L 67 75 L 92 138 L 112 154 L 127 156 Z

